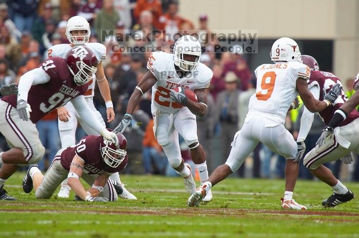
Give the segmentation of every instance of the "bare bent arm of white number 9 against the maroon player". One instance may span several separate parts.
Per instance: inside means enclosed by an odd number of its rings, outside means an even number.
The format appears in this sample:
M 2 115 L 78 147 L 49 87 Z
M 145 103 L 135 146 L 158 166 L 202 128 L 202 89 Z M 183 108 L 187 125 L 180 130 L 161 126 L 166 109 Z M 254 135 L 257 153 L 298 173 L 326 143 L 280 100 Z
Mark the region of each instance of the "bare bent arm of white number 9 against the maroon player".
M 298 78 L 296 80 L 296 89 L 301 96 L 304 105 L 311 113 L 323 111 L 330 105 L 329 101 L 316 100 L 308 89 L 307 81 L 303 78 Z

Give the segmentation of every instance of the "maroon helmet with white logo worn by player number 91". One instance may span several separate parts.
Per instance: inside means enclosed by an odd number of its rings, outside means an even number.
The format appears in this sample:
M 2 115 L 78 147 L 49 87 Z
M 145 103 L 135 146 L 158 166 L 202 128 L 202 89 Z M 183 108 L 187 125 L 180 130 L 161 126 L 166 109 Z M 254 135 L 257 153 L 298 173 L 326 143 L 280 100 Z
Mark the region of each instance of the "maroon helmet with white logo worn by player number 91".
M 97 71 L 97 59 L 86 46 L 75 46 L 66 55 L 67 66 L 77 85 L 83 85 L 92 79 Z

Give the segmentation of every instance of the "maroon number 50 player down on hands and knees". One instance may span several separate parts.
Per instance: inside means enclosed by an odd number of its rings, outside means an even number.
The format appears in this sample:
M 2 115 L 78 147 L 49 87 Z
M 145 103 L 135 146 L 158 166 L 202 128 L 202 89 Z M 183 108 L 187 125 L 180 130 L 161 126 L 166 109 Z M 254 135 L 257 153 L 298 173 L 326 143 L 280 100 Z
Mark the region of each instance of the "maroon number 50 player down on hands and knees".
M 121 186 L 108 179 L 114 172 L 123 170 L 128 161 L 127 140 L 122 134 L 116 134 L 115 143 L 102 136 L 86 136 L 78 144 L 57 152 L 45 176 L 33 164 L 27 170 L 23 180 L 23 189 L 29 193 L 35 187 L 38 199 L 49 199 L 68 178 L 68 184 L 82 200 L 93 202 L 117 201 L 116 190 Z M 92 186 L 85 190 L 79 178 Z

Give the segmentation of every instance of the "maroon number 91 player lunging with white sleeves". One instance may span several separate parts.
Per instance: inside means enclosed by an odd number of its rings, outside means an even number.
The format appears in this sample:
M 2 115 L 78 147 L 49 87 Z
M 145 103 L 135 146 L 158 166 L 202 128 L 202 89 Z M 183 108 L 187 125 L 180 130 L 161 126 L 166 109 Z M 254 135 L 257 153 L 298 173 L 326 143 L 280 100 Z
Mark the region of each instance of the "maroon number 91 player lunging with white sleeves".
M 5 96 L 0 100 L 0 133 L 11 148 L 0 153 L 0 164 L 3 164 L 0 195 L 4 182 L 17 171 L 18 164 L 37 163 L 45 154 L 35 123 L 68 101 L 95 131 L 115 141 L 115 134 L 94 119 L 96 116 L 83 96 L 92 73 L 97 70 L 96 65 L 97 60 L 88 48 L 74 47 L 66 59 L 52 57 L 21 76 L 17 96 Z

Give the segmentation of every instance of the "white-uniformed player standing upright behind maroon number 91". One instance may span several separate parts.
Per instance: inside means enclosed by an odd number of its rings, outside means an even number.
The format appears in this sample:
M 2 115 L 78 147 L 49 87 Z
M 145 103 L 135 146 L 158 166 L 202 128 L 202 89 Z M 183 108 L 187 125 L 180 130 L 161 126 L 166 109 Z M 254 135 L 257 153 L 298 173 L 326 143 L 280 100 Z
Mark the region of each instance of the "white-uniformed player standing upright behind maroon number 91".
M 101 114 L 96 110 L 93 104 L 94 96 L 94 87 L 95 82 L 99 91 L 101 92 L 102 97 L 106 102 L 107 107 L 107 121 L 111 122 L 115 118 L 115 113 L 113 111 L 113 104 L 111 101 L 111 94 L 108 81 L 105 76 L 104 68 L 102 66 L 102 60 L 106 58 L 106 47 L 97 42 L 89 43 L 90 38 L 90 25 L 87 20 L 82 16 L 73 16 L 67 21 L 66 25 L 66 36 L 70 41 L 70 44 L 60 44 L 52 46 L 48 50 L 48 56 L 58 56 L 64 58 L 66 53 L 74 46 L 85 45 L 90 48 L 97 58 L 97 72 L 92 75 L 91 84 L 89 85 L 89 90 L 85 93 L 85 100 L 87 104 L 92 109 L 92 111 L 97 116 L 97 119 L 105 125 L 105 121 L 102 118 Z M 87 135 L 98 135 L 84 120 L 78 116 L 76 110 L 74 109 L 71 102 L 67 103 L 65 106 L 58 107 L 58 129 L 61 138 L 62 148 L 67 148 L 68 146 L 76 144 L 75 142 L 75 133 L 77 128 L 77 122 L 81 124 L 81 127 L 84 129 Z M 119 179 L 118 172 L 110 176 L 111 179 L 117 181 L 122 185 L 124 192 L 119 194 L 119 197 L 124 199 L 137 199 L 132 193 L 130 193 L 125 187 L 124 184 Z M 67 185 L 67 180 L 61 184 L 61 189 L 58 192 L 57 196 L 61 198 L 68 198 L 70 193 L 70 186 Z

